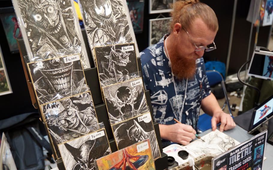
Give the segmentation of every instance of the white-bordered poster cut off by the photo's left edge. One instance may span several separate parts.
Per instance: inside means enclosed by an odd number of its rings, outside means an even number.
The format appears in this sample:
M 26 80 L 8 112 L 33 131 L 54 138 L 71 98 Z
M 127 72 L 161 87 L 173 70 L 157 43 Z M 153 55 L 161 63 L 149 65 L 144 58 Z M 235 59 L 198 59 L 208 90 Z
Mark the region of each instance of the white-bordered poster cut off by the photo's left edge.
M 12 93 L 10 80 L 7 75 L 7 69 L 4 63 L 4 57 L 0 47 L 0 95 Z

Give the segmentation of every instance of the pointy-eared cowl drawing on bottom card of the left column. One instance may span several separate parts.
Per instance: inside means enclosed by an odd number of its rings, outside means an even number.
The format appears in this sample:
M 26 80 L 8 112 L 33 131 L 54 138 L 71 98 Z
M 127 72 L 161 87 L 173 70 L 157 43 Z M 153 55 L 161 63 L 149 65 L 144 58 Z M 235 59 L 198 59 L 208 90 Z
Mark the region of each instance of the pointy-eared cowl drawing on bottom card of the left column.
M 104 129 L 58 147 L 66 170 L 95 170 L 94 160 L 111 153 Z

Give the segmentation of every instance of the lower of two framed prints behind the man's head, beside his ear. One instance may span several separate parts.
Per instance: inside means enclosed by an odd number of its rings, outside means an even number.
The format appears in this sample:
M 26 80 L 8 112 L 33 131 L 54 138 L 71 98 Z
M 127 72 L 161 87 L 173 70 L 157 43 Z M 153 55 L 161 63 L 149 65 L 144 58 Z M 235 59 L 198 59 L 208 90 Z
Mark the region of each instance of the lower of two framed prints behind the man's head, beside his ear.
M 156 44 L 169 32 L 171 17 L 149 20 L 149 46 Z

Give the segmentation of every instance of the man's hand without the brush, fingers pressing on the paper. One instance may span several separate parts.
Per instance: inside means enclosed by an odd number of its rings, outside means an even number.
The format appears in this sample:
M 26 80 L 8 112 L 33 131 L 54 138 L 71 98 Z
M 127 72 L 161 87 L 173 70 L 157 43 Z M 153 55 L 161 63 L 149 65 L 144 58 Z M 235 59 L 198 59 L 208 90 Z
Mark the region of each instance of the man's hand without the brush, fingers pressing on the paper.
M 223 132 L 224 130 L 233 129 L 236 126 L 232 117 L 229 114 L 224 113 L 223 111 L 219 111 L 213 114 L 211 119 L 211 127 L 213 131 L 216 129 L 216 125 L 218 123 L 221 123 L 220 125 L 221 132 Z

